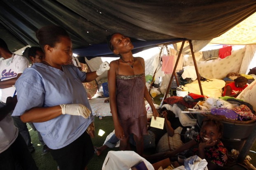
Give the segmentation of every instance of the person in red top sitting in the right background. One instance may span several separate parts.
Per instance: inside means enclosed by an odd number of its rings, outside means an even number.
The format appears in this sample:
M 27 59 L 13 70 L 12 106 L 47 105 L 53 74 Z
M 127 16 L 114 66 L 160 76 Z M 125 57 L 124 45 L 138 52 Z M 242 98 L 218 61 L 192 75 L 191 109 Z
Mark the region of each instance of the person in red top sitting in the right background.
M 246 88 L 248 86 L 247 85 L 248 80 L 247 80 L 247 78 L 245 78 L 243 76 L 237 77 L 234 81 L 235 82 L 232 82 L 225 86 L 223 96 L 226 95 L 226 96 L 236 98 L 237 95 L 239 95 L 241 93 L 241 91 L 243 91 L 244 88 Z

